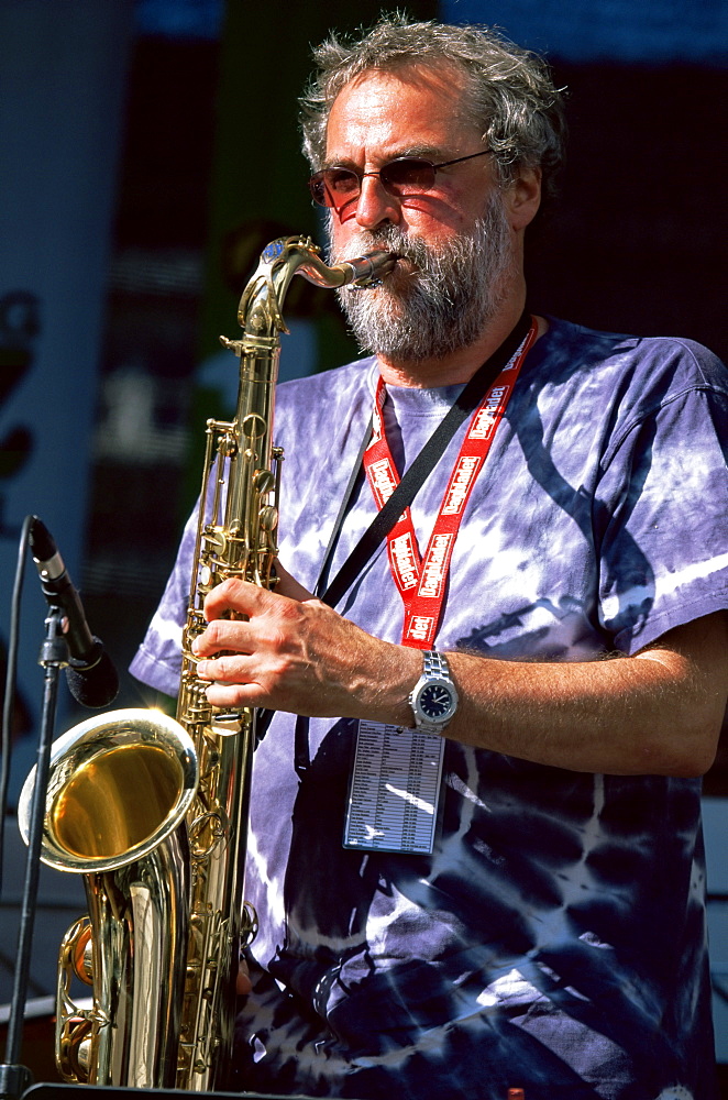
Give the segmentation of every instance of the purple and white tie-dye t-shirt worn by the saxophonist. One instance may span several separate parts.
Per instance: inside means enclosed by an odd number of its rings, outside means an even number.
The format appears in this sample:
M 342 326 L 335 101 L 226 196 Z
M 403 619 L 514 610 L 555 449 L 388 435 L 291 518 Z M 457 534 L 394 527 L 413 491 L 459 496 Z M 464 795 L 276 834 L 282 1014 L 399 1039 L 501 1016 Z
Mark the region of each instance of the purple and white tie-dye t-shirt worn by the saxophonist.
M 309 587 L 369 417 L 364 360 L 279 387 L 280 559 Z M 404 470 L 456 387 L 390 387 Z M 728 376 L 684 340 L 551 320 L 467 505 L 437 647 L 635 653 L 728 607 Z M 412 506 L 420 546 L 455 437 Z M 374 515 L 360 482 L 332 573 Z M 176 693 L 192 529 L 132 671 Z M 339 609 L 399 641 L 384 547 Z M 544 712 L 544 729 L 549 716 Z M 355 723 L 279 713 L 254 762 L 261 931 L 244 1087 L 401 1100 L 708 1100 L 699 781 L 594 776 L 445 741 L 431 856 L 342 847 Z M 260 969 L 258 969 L 260 965 Z

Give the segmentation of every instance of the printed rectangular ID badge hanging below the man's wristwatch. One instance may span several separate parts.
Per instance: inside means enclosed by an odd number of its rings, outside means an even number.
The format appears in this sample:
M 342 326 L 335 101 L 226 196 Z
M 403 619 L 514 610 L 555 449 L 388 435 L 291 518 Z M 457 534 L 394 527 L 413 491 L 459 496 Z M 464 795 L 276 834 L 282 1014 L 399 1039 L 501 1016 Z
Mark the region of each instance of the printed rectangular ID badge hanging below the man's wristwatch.
M 444 749 L 437 734 L 360 721 L 344 848 L 431 853 Z

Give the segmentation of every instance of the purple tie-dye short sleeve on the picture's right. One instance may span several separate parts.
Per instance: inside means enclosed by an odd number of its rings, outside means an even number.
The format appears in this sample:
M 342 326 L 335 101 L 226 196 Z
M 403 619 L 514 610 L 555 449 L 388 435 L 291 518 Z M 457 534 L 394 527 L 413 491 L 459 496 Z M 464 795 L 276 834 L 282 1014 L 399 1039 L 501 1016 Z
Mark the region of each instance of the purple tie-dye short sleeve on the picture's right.
M 620 651 L 728 607 L 727 452 L 726 388 L 680 377 L 615 440 L 594 522 L 603 626 Z

